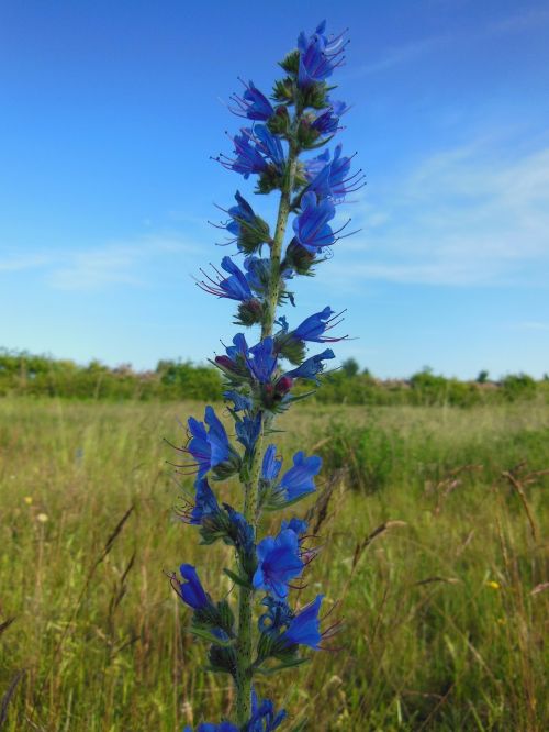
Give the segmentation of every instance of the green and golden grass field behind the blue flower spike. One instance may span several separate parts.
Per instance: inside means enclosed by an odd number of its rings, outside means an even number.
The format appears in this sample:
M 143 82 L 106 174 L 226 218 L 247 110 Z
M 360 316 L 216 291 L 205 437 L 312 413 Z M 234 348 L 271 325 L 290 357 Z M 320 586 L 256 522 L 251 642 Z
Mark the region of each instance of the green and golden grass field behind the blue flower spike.
M 231 709 L 164 574 L 191 562 L 231 590 L 231 551 L 172 510 L 163 437 L 200 410 L 0 400 L 2 730 L 172 732 Z M 269 696 L 317 732 L 549 729 L 549 407 L 295 412 L 281 452 L 315 446 L 332 490 L 300 601 L 322 587 L 344 625 Z

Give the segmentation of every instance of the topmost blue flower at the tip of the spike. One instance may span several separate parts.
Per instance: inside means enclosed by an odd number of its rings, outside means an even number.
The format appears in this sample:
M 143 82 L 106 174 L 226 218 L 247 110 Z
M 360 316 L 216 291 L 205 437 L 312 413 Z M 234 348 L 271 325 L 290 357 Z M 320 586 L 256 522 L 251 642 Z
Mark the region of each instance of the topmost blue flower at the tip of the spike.
M 337 66 L 343 64 L 341 54 L 345 48 L 343 34 L 328 41 L 324 35 L 325 29 L 326 22 L 323 21 L 311 37 L 307 38 L 303 32 L 298 37 L 300 51 L 298 84 L 302 89 L 324 81 L 332 76 Z

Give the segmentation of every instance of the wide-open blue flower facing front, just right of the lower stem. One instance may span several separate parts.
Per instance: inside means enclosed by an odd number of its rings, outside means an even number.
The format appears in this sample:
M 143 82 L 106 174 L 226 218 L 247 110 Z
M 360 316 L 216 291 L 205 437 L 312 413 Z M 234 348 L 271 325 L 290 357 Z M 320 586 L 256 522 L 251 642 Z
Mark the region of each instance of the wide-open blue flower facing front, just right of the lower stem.
M 288 583 L 298 577 L 304 567 L 298 535 L 287 529 L 277 537 L 264 539 L 256 551 L 258 567 L 254 574 L 254 587 L 273 592 L 278 597 L 287 597 Z

